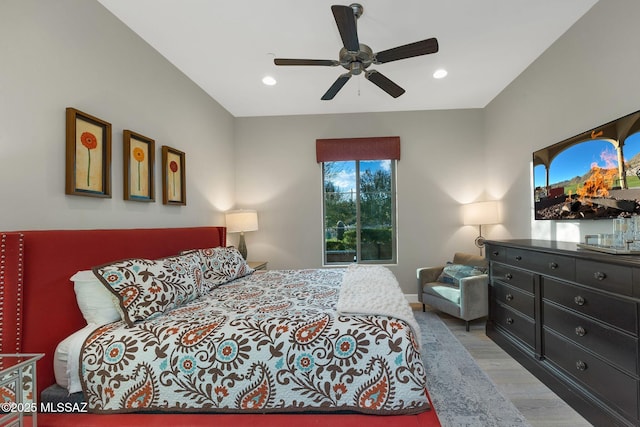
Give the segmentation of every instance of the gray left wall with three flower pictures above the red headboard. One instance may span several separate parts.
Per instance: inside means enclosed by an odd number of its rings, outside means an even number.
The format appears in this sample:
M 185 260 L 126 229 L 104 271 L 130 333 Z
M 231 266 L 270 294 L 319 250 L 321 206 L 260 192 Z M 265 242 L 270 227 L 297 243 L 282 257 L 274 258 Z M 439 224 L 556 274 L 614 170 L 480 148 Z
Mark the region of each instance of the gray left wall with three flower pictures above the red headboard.
M 224 224 L 233 117 L 102 5 L 0 1 L 0 229 Z M 66 196 L 65 108 L 112 124 L 112 198 Z M 123 200 L 122 130 L 156 141 L 156 202 Z M 160 147 L 186 153 L 187 206 L 164 206 Z

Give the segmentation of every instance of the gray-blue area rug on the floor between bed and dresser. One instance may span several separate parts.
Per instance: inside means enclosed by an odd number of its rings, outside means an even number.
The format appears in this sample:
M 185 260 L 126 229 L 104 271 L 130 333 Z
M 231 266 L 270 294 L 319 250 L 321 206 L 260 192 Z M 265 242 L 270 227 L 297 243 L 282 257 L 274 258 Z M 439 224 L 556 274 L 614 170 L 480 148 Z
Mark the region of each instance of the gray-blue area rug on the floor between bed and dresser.
M 443 427 L 530 426 L 432 311 L 414 312 L 427 389 Z

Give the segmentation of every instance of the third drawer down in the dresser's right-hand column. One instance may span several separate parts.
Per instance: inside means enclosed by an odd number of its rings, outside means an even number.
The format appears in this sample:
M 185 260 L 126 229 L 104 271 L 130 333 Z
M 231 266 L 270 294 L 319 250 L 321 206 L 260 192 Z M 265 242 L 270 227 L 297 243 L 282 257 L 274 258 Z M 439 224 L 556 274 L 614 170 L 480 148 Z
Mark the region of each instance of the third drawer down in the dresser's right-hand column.
M 638 372 L 637 338 L 546 301 L 542 307 L 542 317 L 546 328 L 553 329 L 630 373 Z

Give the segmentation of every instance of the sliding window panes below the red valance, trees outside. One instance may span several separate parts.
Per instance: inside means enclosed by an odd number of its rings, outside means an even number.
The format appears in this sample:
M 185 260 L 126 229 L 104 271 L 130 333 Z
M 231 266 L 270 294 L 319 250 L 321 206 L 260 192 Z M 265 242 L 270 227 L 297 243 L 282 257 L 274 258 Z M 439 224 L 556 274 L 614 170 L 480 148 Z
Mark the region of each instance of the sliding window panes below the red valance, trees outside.
M 322 164 L 324 263 L 396 261 L 395 160 Z

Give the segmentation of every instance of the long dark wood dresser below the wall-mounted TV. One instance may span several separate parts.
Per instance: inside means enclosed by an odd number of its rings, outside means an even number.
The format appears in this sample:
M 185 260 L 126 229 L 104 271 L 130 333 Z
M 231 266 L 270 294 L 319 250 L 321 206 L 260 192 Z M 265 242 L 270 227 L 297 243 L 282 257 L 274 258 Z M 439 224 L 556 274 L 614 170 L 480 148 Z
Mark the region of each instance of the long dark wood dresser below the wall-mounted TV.
M 639 426 L 640 256 L 487 241 L 487 335 L 597 426 Z

